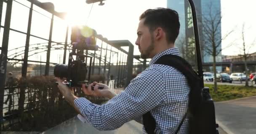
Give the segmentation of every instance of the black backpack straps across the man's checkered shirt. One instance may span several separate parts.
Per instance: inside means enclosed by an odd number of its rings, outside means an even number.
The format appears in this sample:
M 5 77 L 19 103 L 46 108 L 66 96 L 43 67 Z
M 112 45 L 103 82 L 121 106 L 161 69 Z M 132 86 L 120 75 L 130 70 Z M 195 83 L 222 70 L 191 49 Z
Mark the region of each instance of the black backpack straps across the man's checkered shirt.
M 155 62 L 155 64 L 168 65 L 168 66 L 174 67 L 176 70 L 179 70 L 187 78 L 188 84 L 190 87 L 194 85 L 194 82 L 199 80 L 199 77 L 192 69 L 192 66 L 185 59 L 179 56 L 172 55 L 172 54 L 163 55 Z M 187 112 L 183 117 L 183 119 L 181 120 L 181 123 L 179 124 L 179 127 L 176 130 L 175 134 L 178 133 L 186 116 L 187 116 Z M 151 115 L 150 111 L 148 111 L 142 116 L 142 120 L 143 120 L 144 128 L 147 131 L 147 133 L 154 134 L 154 131 L 156 128 L 156 122 L 153 116 Z

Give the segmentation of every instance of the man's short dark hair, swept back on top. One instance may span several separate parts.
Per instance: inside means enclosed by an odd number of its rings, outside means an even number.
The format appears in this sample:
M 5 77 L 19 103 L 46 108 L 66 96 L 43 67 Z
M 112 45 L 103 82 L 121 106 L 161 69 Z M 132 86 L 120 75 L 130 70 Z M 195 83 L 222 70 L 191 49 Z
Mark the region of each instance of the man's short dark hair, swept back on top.
M 179 15 L 169 8 L 148 9 L 141 14 L 139 20 L 144 19 L 144 25 L 152 32 L 157 27 L 163 28 L 168 43 L 174 43 L 179 35 Z

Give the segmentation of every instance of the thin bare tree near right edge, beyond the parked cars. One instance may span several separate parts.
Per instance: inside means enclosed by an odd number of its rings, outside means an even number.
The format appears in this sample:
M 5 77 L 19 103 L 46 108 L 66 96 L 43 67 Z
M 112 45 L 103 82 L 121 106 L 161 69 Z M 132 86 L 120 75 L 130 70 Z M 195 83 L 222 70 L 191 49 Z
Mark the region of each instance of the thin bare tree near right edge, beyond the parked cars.
M 243 27 L 242 27 L 242 40 L 243 40 L 243 45 L 242 47 L 240 47 L 240 49 L 243 50 L 243 60 L 245 62 L 245 75 L 246 75 L 246 80 L 245 80 L 245 87 L 248 87 L 248 69 L 247 69 L 247 58 L 250 56 L 249 54 L 249 50 L 252 46 L 254 46 L 254 41 L 252 44 L 250 45 L 246 45 L 245 44 L 245 23 L 243 23 Z

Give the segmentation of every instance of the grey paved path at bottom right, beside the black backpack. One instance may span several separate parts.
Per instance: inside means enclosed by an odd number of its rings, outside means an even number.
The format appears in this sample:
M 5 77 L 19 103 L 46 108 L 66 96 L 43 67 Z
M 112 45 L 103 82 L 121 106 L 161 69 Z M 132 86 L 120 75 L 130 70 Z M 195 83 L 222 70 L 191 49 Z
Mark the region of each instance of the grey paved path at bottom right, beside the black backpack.
M 256 134 L 256 96 L 215 103 L 216 121 L 228 134 Z

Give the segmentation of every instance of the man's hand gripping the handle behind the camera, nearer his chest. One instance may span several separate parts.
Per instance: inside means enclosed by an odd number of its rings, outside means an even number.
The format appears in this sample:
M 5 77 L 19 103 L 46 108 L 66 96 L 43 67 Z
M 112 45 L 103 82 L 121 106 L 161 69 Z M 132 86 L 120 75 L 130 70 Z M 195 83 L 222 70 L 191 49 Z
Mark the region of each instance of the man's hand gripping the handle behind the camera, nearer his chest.
M 91 87 L 94 85 L 94 89 L 92 90 Z M 99 86 L 104 87 L 103 89 L 99 90 Z M 96 97 L 107 97 L 109 99 L 115 97 L 117 94 L 112 90 L 109 90 L 109 87 L 105 84 L 93 82 L 88 85 L 88 88 L 85 88 L 85 85 L 82 85 L 83 92 L 85 95 L 92 95 Z

